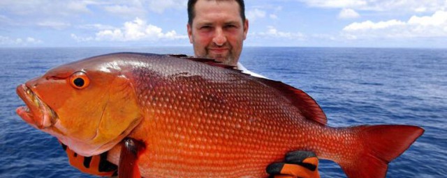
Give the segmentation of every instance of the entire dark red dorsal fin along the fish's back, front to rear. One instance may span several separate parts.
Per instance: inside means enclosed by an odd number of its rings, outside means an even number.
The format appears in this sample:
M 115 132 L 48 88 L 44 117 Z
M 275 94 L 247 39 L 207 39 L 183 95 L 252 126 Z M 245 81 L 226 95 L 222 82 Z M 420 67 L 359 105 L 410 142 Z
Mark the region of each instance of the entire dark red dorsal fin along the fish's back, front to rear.
M 206 63 L 212 66 L 223 67 L 226 69 L 235 70 L 237 72 L 240 72 L 241 74 L 245 74 L 241 70 L 235 69 L 234 66 L 224 65 L 219 61 L 210 58 L 196 58 L 192 56 L 186 56 L 184 54 L 168 54 L 168 56 L 194 60 L 200 63 Z M 298 88 L 294 88 L 293 86 L 289 86 L 286 83 L 282 83 L 281 81 L 273 81 L 270 79 L 258 78 L 256 76 L 253 77 L 256 78 L 258 81 L 265 83 L 267 86 L 276 88 L 281 93 L 283 93 L 284 96 L 291 99 L 293 105 L 299 108 L 302 115 L 304 115 L 305 118 L 307 118 L 308 120 L 314 120 L 323 125 L 328 123 L 328 119 L 326 118 L 326 115 L 321 109 L 321 107 L 315 102 L 315 100 L 312 97 L 307 95 L 307 93 L 303 92 Z

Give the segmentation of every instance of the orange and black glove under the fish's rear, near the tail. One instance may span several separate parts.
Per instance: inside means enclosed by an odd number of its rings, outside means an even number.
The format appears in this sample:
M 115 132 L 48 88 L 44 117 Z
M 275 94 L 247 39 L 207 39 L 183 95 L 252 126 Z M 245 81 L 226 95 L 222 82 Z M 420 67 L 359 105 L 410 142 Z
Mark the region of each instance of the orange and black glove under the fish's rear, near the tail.
M 318 158 L 314 152 L 295 151 L 286 154 L 283 163 L 272 163 L 267 173 L 274 178 L 319 178 Z

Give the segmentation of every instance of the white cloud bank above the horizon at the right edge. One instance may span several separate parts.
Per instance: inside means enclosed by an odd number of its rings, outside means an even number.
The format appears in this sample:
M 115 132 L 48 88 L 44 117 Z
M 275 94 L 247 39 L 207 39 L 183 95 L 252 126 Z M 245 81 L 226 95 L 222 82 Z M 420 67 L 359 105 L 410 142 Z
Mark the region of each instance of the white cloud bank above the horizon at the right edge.
M 447 11 L 438 11 L 432 16 L 415 15 L 407 22 L 397 19 L 355 22 L 344 27 L 343 35 L 349 39 L 447 37 Z

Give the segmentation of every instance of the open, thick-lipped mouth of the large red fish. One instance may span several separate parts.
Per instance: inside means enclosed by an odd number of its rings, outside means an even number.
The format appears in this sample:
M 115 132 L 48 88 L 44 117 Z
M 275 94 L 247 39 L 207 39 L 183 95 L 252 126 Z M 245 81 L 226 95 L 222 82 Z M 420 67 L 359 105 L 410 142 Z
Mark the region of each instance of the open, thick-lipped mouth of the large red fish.
M 18 107 L 15 112 L 25 122 L 37 129 L 52 127 L 58 120 L 57 114 L 25 84 L 17 86 L 17 95 L 26 106 Z

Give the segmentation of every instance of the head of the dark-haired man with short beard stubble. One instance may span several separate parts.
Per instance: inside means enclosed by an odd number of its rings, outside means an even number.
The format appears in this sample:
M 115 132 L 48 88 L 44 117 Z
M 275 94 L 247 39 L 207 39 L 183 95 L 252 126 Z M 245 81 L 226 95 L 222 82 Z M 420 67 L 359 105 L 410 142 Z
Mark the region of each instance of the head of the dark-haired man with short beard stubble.
M 194 54 L 237 65 L 249 29 L 248 20 L 242 22 L 239 4 L 199 0 L 194 9 L 196 16 L 192 25 L 187 26 Z

